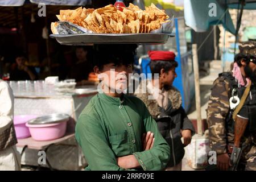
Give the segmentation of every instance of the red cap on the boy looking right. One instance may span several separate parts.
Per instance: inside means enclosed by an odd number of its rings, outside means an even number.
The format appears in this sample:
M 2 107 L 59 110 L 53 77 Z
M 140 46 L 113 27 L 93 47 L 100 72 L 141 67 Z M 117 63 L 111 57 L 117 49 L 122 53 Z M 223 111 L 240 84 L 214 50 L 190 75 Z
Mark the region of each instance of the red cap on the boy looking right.
M 148 51 L 151 61 L 174 61 L 175 53 L 171 51 Z

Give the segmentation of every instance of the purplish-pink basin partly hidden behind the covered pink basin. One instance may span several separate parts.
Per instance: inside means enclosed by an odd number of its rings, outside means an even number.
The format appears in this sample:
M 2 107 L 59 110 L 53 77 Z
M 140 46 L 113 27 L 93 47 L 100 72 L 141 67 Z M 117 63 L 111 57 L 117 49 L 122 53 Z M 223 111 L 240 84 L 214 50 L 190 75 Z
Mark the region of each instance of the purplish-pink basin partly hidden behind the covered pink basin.
M 26 126 L 26 123 L 30 121 L 30 119 L 34 119 L 38 117 L 38 115 L 15 115 L 13 122 L 14 122 L 14 129 L 16 133 L 16 138 L 28 138 L 30 137 L 30 131 Z

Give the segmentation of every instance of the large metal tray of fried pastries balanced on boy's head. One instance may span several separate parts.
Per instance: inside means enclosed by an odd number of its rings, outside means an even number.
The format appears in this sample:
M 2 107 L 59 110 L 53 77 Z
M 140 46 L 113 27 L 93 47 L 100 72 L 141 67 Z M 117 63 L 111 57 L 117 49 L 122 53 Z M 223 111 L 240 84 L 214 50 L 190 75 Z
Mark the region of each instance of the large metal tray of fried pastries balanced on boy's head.
M 82 46 L 85 44 L 164 44 L 174 34 L 51 34 L 64 45 Z

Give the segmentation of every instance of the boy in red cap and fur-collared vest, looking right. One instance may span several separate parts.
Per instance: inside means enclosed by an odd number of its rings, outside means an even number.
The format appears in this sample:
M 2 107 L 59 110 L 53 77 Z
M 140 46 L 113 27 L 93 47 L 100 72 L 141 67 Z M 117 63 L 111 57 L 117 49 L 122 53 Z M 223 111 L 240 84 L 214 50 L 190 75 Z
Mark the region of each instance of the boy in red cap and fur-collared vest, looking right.
M 195 129 L 181 106 L 180 92 L 172 86 L 177 77 L 175 53 L 149 51 L 148 55 L 151 59 L 152 80 L 142 81 L 138 89 L 141 90 L 144 84 L 147 85 L 147 92 L 144 94 L 137 89 L 135 96 L 146 104 L 148 111 L 158 124 L 160 133 L 170 145 L 171 158 L 166 170 L 180 171 L 184 147 L 191 142 Z M 155 74 L 158 74 L 159 77 L 155 77 Z M 147 81 L 146 84 L 145 81 Z M 154 99 L 149 100 L 150 96 Z M 183 137 L 184 143 L 181 142 L 181 137 Z

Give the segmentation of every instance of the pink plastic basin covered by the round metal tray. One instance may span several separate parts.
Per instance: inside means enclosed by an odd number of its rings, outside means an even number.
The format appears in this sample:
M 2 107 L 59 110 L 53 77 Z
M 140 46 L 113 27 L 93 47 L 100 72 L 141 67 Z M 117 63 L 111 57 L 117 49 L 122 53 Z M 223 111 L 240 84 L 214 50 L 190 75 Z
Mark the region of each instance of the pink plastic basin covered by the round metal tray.
M 30 125 L 26 123 L 26 126 L 34 140 L 46 141 L 63 137 L 67 129 L 67 121 L 45 125 Z

